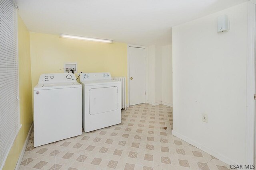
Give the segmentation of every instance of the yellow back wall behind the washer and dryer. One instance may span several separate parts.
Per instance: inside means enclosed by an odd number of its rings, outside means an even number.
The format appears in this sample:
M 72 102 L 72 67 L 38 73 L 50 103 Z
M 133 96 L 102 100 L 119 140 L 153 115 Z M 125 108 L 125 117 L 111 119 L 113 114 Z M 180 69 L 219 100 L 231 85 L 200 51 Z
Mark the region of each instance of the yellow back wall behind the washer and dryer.
M 64 72 L 64 63 L 77 63 L 79 72 L 110 72 L 127 76 L 127 44 L 97 43 L 30 32 L 32 87 L 40 74 Z

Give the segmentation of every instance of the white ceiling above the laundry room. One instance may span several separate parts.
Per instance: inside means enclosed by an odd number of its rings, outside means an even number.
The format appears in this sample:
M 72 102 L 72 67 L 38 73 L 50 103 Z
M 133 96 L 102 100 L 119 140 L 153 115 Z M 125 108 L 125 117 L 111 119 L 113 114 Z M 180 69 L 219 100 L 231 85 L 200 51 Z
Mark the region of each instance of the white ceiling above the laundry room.
M 16 0 L 30 31 L 112 39 L 137 45 L 171 43 L 171 27 L 247 0 Z

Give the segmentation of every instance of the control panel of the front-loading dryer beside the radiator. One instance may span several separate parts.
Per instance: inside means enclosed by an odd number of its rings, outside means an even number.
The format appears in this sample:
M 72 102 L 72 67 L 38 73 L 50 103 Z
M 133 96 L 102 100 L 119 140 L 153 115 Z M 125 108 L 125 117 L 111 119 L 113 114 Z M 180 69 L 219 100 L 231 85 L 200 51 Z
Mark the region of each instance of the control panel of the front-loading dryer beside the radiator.
M 109 72 L 81 73 L 80 82 L 86 80 L 111 80 L 111 74 Z

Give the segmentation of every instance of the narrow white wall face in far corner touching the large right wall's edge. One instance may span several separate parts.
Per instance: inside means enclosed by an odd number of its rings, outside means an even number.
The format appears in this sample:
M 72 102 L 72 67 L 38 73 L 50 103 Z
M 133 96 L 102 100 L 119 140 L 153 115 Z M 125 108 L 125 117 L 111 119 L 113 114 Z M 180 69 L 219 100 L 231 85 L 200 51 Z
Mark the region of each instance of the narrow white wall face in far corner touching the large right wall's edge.
M 172 107 L 172 45 L 162 47 L 162 104 Z

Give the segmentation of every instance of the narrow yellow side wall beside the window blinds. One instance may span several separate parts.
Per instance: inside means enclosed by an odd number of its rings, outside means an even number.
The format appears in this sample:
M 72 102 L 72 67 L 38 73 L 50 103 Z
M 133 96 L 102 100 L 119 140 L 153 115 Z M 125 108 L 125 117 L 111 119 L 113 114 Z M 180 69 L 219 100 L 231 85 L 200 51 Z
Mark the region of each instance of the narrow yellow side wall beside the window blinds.
M 18 16 L 18 57 L 20 81 L 20 123 L 22 127 L 14 141 L 3 170 L 14 170 L 32 125 L 32 91 L 30 67 L 30 38 L 26 25 Z

